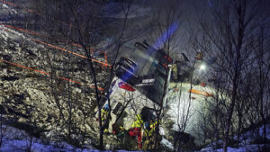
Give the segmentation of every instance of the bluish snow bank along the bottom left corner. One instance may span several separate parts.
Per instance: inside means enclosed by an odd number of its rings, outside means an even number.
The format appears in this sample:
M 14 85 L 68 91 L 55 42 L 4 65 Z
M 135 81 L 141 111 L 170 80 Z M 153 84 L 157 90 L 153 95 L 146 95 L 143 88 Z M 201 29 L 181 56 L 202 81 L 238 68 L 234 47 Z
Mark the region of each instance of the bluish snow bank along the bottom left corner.
M 0 146 L 1 152 L 24 152 L 30 148 L 31 136 L 24 130 L 18 130 L 10 126 L 2 126 L 3 143 Z M 45 141 L 42 139 L 32 138 L 31 143 L 32 152 L 99 152 L 92 146 L 85 146 L 85 148 L 76 148 L 68 145 L 66 142 Z M 115 150 L 113 150 L 115 151 Z M 105 150 L 103 152 L 111 152 L 111 150 Z M 117 150 L 117 152 L 128 152 L 126 150 Z

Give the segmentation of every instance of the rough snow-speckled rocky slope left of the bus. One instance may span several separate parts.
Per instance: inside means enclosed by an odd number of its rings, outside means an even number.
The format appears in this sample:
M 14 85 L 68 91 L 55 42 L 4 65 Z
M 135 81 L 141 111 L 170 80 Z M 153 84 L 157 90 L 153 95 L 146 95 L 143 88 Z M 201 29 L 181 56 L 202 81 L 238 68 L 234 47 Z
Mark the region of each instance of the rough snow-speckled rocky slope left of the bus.
M 64 139 L 70 114 L 68 107 L 72 105 L 70 118 L 77 131 L 73 139 L 81 138 L 85 131 L 97 137 L 93 130 L 97 122 L 92 117 L 95 98 L 89 93 L 93 92 L 89 87 L 93 81 L 90 75 L 85 75 L 85 58 L 44 46 L 33 40 L 31 34 L 0 25 L 0 103 L 4 107 L 4 117 L 35 126 L 44 131 L 39 136 L 47 139 Z M 68 62 L 73 69 L 69 75 Z M 55 72 L 54 77 L 50 76 L 51 72 Z M 105 71 L 101 73 L 99 75 L 106 74 Z M 68 76 L 80 83 L 70 82 L 69 92 Z M 105 78 L 98 79 L 100 86 L 106 82 Z M 72 98 L 68 100 L 67 94 L 72 94 Z

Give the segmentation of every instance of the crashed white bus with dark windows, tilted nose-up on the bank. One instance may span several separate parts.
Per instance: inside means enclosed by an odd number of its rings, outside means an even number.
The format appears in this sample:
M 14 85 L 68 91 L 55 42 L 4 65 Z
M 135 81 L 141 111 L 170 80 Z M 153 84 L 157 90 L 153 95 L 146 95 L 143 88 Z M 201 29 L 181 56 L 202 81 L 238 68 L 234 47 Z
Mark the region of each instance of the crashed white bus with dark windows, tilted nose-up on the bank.
M 130 46 L 128 46 L 130 49 Z M 129 56 L 121 57 L 115 68 L 115 77 L 107 95 L 110 98 L 112 124 L 118 123 L 130 129 L 135 116 L 143 109 L 157 110 L 164 96 L 165 86 L 169 83 L 172 59 L 159 49 L 153 49 L 136 42 Z M 103 107 L 108 99 L 103 101 Z M 149 112 L 144 112 L 149 113 Z M 142 119 L 145 118 L 142 116 Z M 145 120 L 144 120 L 145 121 Z

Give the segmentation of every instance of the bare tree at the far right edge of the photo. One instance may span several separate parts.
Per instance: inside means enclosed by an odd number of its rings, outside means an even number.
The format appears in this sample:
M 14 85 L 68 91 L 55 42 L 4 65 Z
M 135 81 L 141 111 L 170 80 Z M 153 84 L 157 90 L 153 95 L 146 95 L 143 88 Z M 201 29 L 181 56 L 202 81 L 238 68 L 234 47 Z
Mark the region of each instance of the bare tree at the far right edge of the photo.
M 267 29 L 266 29 L 267 31 Z M 269 35 L 266 34 L 264 26 L 260 27 L 257 41 L 253 45 L 256 51 L 257 58 L 254 67 L 254 77 L 257 83 L 254 83 L 252 87 L 253 101 L 256 101 L 255 108 L 257 112 L 258 121 L 263 122 L 263 143 L 264 150 L 266 150 L 266 119 L 268 118 L 268 107 L 269 107 L 269 63 L 266 61 L 269 58 L 269 46 L 267 43 L 269 41 Z

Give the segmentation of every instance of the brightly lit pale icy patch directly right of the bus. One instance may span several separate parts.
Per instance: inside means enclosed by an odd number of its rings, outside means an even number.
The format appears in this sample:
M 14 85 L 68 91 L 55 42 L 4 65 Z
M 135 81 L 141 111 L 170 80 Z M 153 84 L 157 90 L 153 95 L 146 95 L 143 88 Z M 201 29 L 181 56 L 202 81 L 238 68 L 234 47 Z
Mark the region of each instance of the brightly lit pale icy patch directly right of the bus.
M 184 131 L 192 134 L 193 126 L 198 121 L 198 115 L 202 112 L 207 97 L 202 94 L 190 94 L 188 90 L 191 85 L 187 83 L 172 83 L 170 88 L 168 92 L 168 106 L 170 107 L 168 115 L 175 122 L 173 130 L 179 130 L 179 124 L 181 125 L 187 119 L 187 126 Z M 192 88 L 209 94 L 212 93 L 211 88 L 207 86 L 192 85 Z M 191 99 L 189 95 L 191 95 Z

